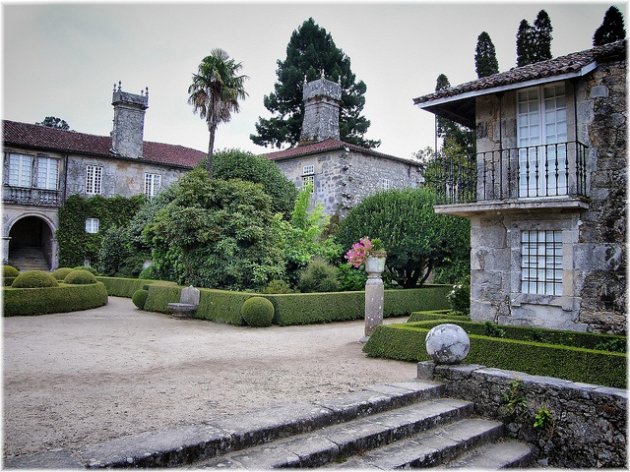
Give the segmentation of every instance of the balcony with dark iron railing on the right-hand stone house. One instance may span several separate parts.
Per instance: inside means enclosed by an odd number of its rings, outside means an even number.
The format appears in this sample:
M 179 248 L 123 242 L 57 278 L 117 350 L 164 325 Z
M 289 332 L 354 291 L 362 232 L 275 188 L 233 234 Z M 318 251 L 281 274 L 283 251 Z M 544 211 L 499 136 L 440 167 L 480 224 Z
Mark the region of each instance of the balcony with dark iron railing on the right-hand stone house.
M 588 147 L 574 141 L 438 158 L 425 180 L 436 191 L 438 213 L 587 208 L 587 155 Z

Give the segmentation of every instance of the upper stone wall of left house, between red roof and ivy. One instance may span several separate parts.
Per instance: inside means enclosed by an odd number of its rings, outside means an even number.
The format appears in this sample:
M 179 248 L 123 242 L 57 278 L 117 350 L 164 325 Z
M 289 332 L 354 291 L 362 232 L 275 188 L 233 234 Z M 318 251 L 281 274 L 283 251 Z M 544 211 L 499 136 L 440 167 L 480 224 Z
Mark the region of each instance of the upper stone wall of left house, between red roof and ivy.
M 68 160 L 67 194 L 85 193 L 86 167 L 88 165 L 103 167 L 101 195 L 112 197 L 122 195 L 131 197 L 144 194 L 144 174 L 159 174 L 162 176 L 162 188 L 169 187 L 189 169 L 176 169 L 147 163 L 146 161 L 132 161 L 115 158 L 88 158 L 70 156 Z M 63 176 L 61 177 L 63 179 Z

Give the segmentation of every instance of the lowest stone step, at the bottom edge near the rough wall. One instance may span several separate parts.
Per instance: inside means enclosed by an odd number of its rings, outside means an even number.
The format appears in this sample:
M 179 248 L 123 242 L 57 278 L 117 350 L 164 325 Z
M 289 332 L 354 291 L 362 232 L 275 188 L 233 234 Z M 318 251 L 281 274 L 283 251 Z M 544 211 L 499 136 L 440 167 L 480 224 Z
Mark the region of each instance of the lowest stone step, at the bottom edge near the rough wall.
M 445 464 L 445 469 L 512 469 L 525 468 L 534 462 L 529 444 L 505 440 L 476 448 Z

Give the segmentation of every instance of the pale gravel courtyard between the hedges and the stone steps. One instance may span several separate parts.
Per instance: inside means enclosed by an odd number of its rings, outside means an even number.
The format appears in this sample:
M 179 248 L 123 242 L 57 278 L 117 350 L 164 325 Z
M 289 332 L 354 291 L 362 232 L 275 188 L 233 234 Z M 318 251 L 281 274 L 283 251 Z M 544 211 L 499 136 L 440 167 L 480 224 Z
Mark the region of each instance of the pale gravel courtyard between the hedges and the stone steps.
M 416 375 L 413 363 L 367 358 L 362 321 L 251 329 L 172 319 L 110 297 L 94 310 L 3 323 L 4 456 Z

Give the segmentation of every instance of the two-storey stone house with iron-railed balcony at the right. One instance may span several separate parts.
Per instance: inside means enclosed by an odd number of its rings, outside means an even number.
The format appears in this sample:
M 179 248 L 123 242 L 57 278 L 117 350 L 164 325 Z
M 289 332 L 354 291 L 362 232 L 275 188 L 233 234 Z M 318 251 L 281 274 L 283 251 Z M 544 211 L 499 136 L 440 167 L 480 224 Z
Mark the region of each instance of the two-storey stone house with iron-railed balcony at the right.
M 625 333 L 626 64 L 618 41 L 414 100 L 476 130 L 435 207 L 471 221 L 474 320 Z

